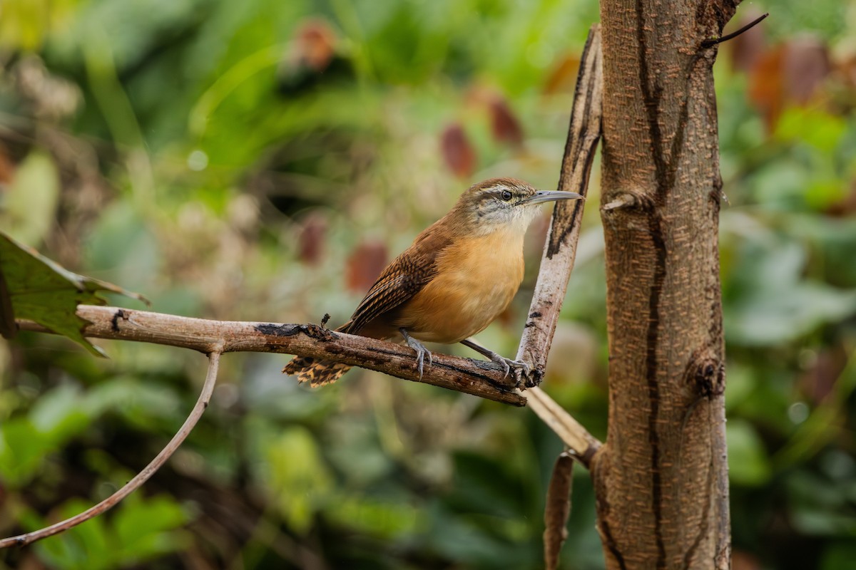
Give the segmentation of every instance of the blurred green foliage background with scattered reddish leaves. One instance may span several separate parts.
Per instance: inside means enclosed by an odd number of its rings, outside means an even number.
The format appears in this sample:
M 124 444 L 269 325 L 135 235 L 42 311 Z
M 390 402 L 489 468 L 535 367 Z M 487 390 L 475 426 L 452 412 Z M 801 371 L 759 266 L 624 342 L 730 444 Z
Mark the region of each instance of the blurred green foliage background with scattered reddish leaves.
M 716 64 L 734 567 L 834 570 L 856 556 L 856 8 L 767 8 Z M 556 184 L 597 9 L 6 0 L 0 227 L 159 311 L 345 320 L 472 181 Z M 545 386 L 603 437 L 598 224 L 589 208 Z M 506 354 L 544 231 L 532 229 L 519 298 L 481 338 Z M 102 345 L 110 361 L 47 335 L 0 345 L 3 535 L 108 496 L 192 407 L 201 356 Z M 199 426 L 142 491 L 0 561 L 542 566 L 562 446 L 532 414 L 359 370 L 310 391 L 283 362 L 225 358 Z M 591 485 L 575 477 L 562 567 L 602 567 Z

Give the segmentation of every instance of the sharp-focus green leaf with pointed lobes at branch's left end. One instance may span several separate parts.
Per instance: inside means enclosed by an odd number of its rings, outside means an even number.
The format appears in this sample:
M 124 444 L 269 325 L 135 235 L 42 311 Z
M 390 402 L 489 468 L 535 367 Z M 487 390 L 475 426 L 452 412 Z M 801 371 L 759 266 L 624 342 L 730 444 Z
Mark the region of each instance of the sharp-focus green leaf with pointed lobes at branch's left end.
M 96 356 L 104 354 L 83 337 L 86 320 L 77 316 L 77 305 L 106 304 L 102 297 L 98 297 L 98 291 L 120 293 L 148 303 L 138 293 L 72 273 L 3 232 L 0 232 L 0 273 L 3 273 L 5 295 L 11 302 L 13 318 L 33 320 L 82 344 Z M 4 304 L 0 303 L 0 309 Z M 8 319 L 9 315 L 3 315 L 0 321 Z

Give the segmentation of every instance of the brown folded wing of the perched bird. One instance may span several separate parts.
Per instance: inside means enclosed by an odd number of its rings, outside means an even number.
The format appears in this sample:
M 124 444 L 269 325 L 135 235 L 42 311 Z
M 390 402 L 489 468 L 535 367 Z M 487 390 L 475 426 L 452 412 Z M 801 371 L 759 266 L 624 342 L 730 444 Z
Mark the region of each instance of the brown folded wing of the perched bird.
M 437 255 L 451 242 L 449 232 L 443 232 L 442 226 L 443 220 L 439 220 L 420 233 L 413 245 L 383 270 L 351 315 L 346 332 L 360 334 L 372 320 L 413 298 L 434 278 Z

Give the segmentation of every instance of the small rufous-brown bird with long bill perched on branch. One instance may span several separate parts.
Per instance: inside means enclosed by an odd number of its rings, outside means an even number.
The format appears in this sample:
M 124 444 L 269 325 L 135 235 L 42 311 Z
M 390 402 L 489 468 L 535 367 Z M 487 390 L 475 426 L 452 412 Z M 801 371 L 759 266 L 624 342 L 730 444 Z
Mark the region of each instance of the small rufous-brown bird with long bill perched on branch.
M 364 337 L 399 338 L 416 353 L 419 379 L 431 352 L 420 341 L 461 343 L 505 371 L 529 373 L 470 337 L 490 325 L 511 303 L 523 280 L 523 238 L 538 206 L 584 199 L 569 191 L 539 191 L 514 178 L 470 186 L 443 218 L 434 222 L 383 269 L 350 320 L 336 328 Z M 312 387 L 335 382 L 350 366 L 295 356 L 282 372 Z

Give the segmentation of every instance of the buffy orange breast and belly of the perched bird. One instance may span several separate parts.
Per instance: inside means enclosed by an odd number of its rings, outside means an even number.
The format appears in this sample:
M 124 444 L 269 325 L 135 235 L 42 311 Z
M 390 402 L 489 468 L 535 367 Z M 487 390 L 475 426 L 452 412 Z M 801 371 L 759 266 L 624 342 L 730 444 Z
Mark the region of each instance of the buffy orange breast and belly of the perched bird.
M 458 239 L 437 256 L 435 277 L 401 307 L 395 326 L 427 342 L 460 342 L 508 307 L 522 279 L 522 235 Z

